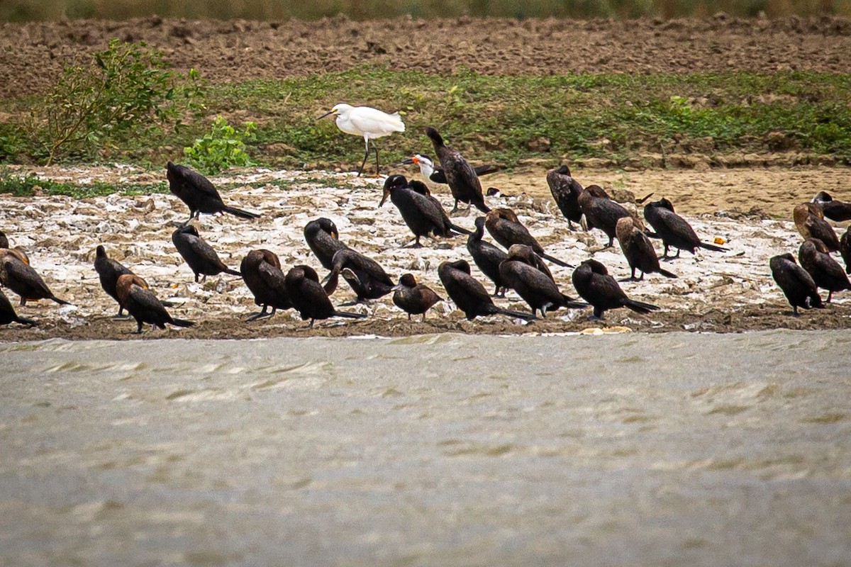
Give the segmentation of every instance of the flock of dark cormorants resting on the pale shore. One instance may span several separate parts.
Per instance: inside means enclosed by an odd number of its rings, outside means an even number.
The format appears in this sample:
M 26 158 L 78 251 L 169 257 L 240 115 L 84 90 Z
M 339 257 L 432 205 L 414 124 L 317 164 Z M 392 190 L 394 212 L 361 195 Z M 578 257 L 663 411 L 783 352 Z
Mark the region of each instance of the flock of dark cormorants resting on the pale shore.
M 618 281 L 608 274 L 606 266 L 597 260 L 586 259 L 574 268 L 545 252 L 511 209 L 491 209 L 486 205 L 479 175 L 497 168 L 471 167 L 460 152 L 444 144 L 435 128 L 426 128 L 426 135 L 431 139 L 441 167 L 433 168 L 430 158 L 417 156 L 422 157 L 422 173 L 432 182 L 448 184 L 455 201 L 453 212 L 458 209 L 459 202 L 463 202 L 485 215 L 475 219 L 475 230 L 466 230 L 452 222 L 425 183 L 406 179 L 403 175 L 386 178 L 379 206 L 390 198 L 414 235 L 412 247 L 421 247 L 420 238 L 423 236 L 467 235 L 467 251 L 482 273 L 493 282 L 494 293 L 488 293 L 482 283 L 472 277 L 471 266 L 465 259 L 443 262 L 437 269 L 448 297 L 467 319 L 506 315 L 534 320 L 539 314 L 545 317 L 548 311 L 585 309 L 589 306 L 593 309 L 593 318 L 602 319 L 608 309 L 627 308 L 642 314 L 659 309 L 654 304 L 628 298 Z M 417 160 L 408 162 L 416 163 Z M 425 163 L 429 164 L 427 169 Z M 312 220 L 304 229 L 311 252 L 319 264 L 328 269 L 328 276 L 323 281 L 320 281 L 315 269 L 303 264 L 284 273 L 277 255 L 266 249 L 248 252 L 239 270 L 231 269 L 221 261 L 214 248 L 203 241 L 197 229 L 190 224 L 191 220 L 200 213 L 229 213 L 246 219 L 259 218 L 260 215 L 227 206 L 214 185 L 189 167 L 168 162 L 167 178 L 171 192 L 190 210 L 186 223 L 174 230 L 174 247 L 192 270 L 196 282 L 199 278 L 204 281 L 208 275 L 220 273 L 241 276 L 254 295 L 254 303 L 261 308 L 259 313 L 248 317 L 249 321 L 271 317 L 277 309 L 295 309 L 302 320 L 310 320 L 310 326 L 315 320 L 330 317 L 365 317 L 361 313 L 336 309 L 331 303 L 329 296 L 336 290 L 340 276 L 357 296 L 353 303 L 368 302 L 393 292 L 393 303 L 408 313 L 408 319 L 411 315 L 423 315 L 425 319 L 426 311 L 443 300 L 431 288 L 418 283 L 414 275 L 404 274 L 397 283 L 392 281 L 380 264 L 340 241 L 337 227 L 328 218 Z M 675 213 L 671 201 L 665 198 L 648 202 L 643 207 L 644 220 L 653 229 L 650 230 L 641 218 L 612 200 L 602 187 L 583 187 L 571 176 L 567 166 L 552 169 L 546 180 L 557 207 L 568 220 L 569 230 L 574 230 L 573 224 L 578 223 L 586 230 L 602 230 L 608 235 L 606 247 L 614 246 L 614 239 L 619 241 L 631 268 L 631 276 L 625 281 L 643 280 L 645 274 L 676 278 L 677 275 L 661 267 L 660 259 L 679 258 L 682 250 L 693 254 L 698 247 L 716 252 L 727 250 L 700 241 L 688 222 Z M 649 197 L 637 200 L 637 203 L 643 203 Z M 799 307 L 824 307 L 819 288 L 828 290 L 827 303 L 831 301 L 833 292 L 851 289 L 847 275 L 851 273 L 851 229 L 841 239 L 837 238 L 825 217 L 837 222 L 849 220 L 851 204 L 834 201 L 828 194 L 820 192 L 812 202 L 795 207 L 793 218 L 805 239 L 798 252 L 800 265 L 791 253 L 770 260 L 774 281 L 785 293 L 794 315 L 798 315 Z M 483 241 L 485 230 L 505 250 Z M 657 257 L 651 238 L 662 241 L 665 251 L 661 258 Z M 677 249 L 673 257 L 668 253 L 671 248 Z M 840 252 L 846 265 L 844 270 L 831 257 L 831 252 Z M 571 298 L 559 289 L 544 260 L 574 269 L 571 282 L 581 300 Z M 159 328 L 165 328 L 166 324 L 194 325 L 191 321 L 168 315 L 166 308 L 172 305 L 160 301 L 139 275 L 109 258 L 103 246 L 96 249 L 94 269 L 104 291 L 118 303 L 116 317 L 123 317 L 126 310 L 137 323 L 136 333 L 140 333 L 146 323 Z M 639 278 L 636 278 L 636 271 L 641 273 Z M 3 232 L 0 232 L 0 283 L 20 296 L 21 306 L 38 299 L 67 303 L 50 292 L 42 277 L 32 269 L 26 252 L 10 247 Z M 505 297 L 509 289 L 523 298 L 530 312 L 504 309 L 494 303 L 494 298 Z M 0 290 L 0 324 L 11 322 L 36 325 L 36 321 L 17 315 Z

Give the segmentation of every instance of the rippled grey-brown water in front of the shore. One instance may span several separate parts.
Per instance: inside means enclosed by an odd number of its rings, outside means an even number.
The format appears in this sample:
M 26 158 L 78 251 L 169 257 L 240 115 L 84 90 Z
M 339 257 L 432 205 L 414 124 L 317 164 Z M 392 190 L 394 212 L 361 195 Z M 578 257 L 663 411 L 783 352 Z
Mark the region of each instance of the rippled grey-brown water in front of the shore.
M 848 565 L 849 346 L 0 344 L 0 564 Z

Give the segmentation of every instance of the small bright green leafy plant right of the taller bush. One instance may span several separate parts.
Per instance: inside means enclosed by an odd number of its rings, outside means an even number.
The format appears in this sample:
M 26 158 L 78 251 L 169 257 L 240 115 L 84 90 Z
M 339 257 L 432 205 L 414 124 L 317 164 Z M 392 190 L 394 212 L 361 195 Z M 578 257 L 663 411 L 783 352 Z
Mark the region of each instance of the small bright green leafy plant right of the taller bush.
M 228 124 L 224 116 L 216 116 L 210 133 L 196 139 L 195 144 L 183 149 L 183 153 L 186 160 L 203 173 L 219 173 L 232 166 L 253 166 L 243 140 L 253 140 L 256 129 L 254 122 L 245 122 L 243 130 L 239 131 Z

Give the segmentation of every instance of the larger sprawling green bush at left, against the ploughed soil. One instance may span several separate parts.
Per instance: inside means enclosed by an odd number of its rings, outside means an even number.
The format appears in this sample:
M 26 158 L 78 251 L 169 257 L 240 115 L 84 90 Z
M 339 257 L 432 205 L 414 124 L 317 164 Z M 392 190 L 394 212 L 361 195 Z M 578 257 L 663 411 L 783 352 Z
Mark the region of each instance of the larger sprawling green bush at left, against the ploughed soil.
M 197 71 L 169 71 L 163 54 L 145 42 L 112 39 L 89 65 L 66 65 L 43 104 L 31 113 L 35 153 L 48 164 L 60 156 L 93 156 L 129 136 L 180 128 L 187 111 L 199 111 L 204 88 Z

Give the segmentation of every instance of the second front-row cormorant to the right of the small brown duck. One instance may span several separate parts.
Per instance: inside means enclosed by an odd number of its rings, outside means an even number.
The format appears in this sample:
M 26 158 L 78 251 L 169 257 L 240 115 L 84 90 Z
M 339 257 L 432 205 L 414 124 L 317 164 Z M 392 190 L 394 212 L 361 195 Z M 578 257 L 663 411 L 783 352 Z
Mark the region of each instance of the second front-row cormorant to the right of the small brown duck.
M 523 247 L 523 248 L 521 248 Z M 532 264 L 538 264 L 540 258 L 531 252 L 531 248 L 515 244 L 508 250 L 508 259 L 500 264 L 500 275 L 505 286 L 513 289 L 528 303 L 535 315 L 540 309 L 540 316 L 546 317 L 547 309 L 555 311 L 560 307 L 582 309 L 587 307 L 586 303 L 576 301 L 558 290 L 556 282 L 552 281 L 552 275 L 544 273 Z M 534 258 L 533 258 L 534 257 Z

